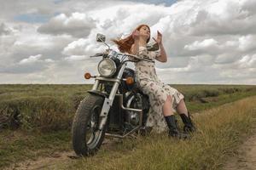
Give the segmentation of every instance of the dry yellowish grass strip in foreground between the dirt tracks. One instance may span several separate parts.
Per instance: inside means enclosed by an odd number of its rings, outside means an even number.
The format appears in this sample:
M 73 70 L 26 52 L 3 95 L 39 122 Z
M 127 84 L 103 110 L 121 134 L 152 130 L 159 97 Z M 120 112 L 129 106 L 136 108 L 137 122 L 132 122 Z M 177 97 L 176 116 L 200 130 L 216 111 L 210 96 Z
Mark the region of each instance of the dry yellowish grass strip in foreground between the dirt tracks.
M 103 148 L 94 157 L 68 161 L 55 168 L 219 169 L 254 126 L 255 102 L 256 97 L 250 97 L 203 111 L 195 117 L 198 132 L 190 140 L 169 139 L 166 133 L 125 139 L 115 149 Z

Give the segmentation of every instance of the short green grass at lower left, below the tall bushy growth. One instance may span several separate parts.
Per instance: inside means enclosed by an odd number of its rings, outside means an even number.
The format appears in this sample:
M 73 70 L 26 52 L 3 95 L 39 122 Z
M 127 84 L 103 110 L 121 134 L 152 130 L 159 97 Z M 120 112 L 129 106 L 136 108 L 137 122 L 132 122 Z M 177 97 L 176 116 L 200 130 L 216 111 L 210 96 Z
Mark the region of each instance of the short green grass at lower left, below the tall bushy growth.
M 58 151 L 70 150 L 70 132 L 26 133 L 5 130 L 0 133 L 0 168 L 16 161 L 35 160 Z

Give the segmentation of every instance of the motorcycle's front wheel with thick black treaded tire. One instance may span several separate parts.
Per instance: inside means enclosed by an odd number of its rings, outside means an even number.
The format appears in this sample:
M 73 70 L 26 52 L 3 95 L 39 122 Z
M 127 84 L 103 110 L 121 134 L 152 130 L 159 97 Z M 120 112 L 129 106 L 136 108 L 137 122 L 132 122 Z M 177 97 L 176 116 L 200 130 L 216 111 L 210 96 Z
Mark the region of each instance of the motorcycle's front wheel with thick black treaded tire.
M 101 96 L 88 94 L 79 104 L 72 126 L 73 150 L 78 156 L 93 156 L 102 145 L 107 128 L 106 123 L 98 130 L 103 101 Z

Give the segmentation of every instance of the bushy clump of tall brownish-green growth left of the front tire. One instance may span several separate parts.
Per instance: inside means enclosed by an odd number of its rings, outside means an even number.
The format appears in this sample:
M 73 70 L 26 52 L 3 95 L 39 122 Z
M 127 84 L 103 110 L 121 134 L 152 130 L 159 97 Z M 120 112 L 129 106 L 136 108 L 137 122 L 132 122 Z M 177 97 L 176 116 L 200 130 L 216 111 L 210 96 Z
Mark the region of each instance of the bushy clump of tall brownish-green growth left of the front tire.
M 9 99 L 0 104 L 0 115 L 8 117 L 10 128 L 59 130 L 71 127 L 73 105 L 54 97 Z

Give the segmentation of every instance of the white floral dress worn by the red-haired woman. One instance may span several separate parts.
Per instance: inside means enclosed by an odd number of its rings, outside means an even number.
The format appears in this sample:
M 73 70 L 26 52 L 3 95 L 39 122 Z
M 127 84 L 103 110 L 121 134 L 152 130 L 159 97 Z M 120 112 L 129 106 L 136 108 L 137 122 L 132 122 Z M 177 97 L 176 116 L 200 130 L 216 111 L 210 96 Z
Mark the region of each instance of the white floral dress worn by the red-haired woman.
M 147 48 L 140 47 L 137 56 L 139 58 L 146 58 L 155 60 L 159 52 L 148 51 Z M 163 116 L 163 105 L 166 101 L 167 95 L 172 96 L 172 110 L 176 111 L 177 104 L 183 99 L 183 94 L 177 89 L 160 81 L 156 75 L 154 62 L 141 60 L 135 63 L 135 72 L 139 88 L 143 94 L 147 94 L 150 102 L 150 109 L 148 111 L 147 127 L 153 127 L 154 132 L 160 133 L 167 129 L 166 120 Z

